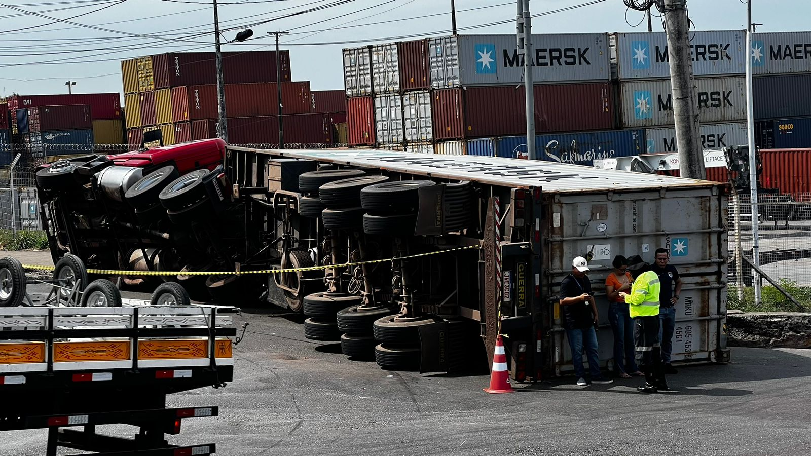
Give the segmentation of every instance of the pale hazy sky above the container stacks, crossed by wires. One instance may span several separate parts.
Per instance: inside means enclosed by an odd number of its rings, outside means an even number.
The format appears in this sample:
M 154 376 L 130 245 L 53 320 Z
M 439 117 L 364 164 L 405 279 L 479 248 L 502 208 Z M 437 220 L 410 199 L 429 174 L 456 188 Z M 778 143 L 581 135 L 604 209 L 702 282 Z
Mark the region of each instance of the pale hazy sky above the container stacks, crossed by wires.
M 530 0 L 530 11 L 538 14 L 588 1 Z M 279 18 L 335 2 L 341 4 Z M 233 39 L 246 25 L 251 25 L 254 32 L 250 41 L 226 44 L 223 50 L 273 49 L 267 32 L 290 32 L 280 43 L 281 49 L 290 49 L 293 80 L 310 80 L 313 90 L 343 88 L 342 48 L 398 41 L 397 37 L 417 34 L 447 35 L 451 28 L 450 0 L 219 3 L 225 39 Z M 741 0 L 688 0 L 687 4 L 697 30 L 743 29 L 746 23 L 746 5 Z M 481 27 L 514 19 L 514 2 L 456 0 L 456 9 L 460 33 L 515 32 L 512 22 Z M 32 12 L 38 15 L 29 14 Z M 408 19 L 424 15 L 432 16 Z M 753 0 L 753 22 L 763 24 L 758 26 L 758 32 L 811 30 L 809 16 L 809 0 Z M 257 24 L 273 18 L 277 19 Z M 370 24 L 383 21 L 393 22 Z M 122 92 L 122 59 L 170 51 L 213 50 L 210 0 L 0 0 L 0 24 L 2 96 L 11 92 L 64 93 L 66 80 L 76 81 L 75 93 Z M 330 28 L 335 29 L 326 30 Z M 534 18 L 532 29 L 534 33 L 645 32 L 647 23 L 644 13 L 629 11 L 622 0 L 603 0 Z M 653 30 L 662 31 L 659 18 L 654 17 Z

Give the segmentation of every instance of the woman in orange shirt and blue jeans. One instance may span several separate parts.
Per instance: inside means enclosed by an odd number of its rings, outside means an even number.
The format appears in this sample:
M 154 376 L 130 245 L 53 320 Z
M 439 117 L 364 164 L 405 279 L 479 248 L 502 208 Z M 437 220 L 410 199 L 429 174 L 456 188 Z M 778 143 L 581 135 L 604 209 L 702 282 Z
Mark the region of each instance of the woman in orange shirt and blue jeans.
M 636 361 L 636 351 L 633 346 L 633 320 L 628 310 L 628 304 L 620 298 L 620 291 L 629 293 L 633 285 L 633 278 L 628 271 L 628 260 L 624 256 L 614 257 L 614 270 L 606 277 L 606 293 L 608 295 L 608 321 L 614 331 L 614 369 L 622 378 L 645 375 L 639 372 Z M 624 362 L 623 362 L 624 359 Z

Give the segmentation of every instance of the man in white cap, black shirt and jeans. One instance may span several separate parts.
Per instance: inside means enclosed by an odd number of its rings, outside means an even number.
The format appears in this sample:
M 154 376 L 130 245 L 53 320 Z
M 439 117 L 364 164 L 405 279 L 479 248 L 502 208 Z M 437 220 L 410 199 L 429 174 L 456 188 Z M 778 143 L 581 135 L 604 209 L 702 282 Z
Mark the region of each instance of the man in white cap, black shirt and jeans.
M 600 372 L 600 358 L 597 347 L 597 331 L 594 327 L 599 321 L 597 305 L 591 293 L 591 283 L 586 272 L 589 264 L 586 258 L 578 256 L 572 261 L 572 273 L 560 282 L 560 319 L 563 320 L 566 337 L 572 349 L 572 364 L 577 376 L 577 385 L 586 386 L 586 369 L 583 368 L 583 348 L 589 358 L 591 383 L 607 385 L 612 380 Z

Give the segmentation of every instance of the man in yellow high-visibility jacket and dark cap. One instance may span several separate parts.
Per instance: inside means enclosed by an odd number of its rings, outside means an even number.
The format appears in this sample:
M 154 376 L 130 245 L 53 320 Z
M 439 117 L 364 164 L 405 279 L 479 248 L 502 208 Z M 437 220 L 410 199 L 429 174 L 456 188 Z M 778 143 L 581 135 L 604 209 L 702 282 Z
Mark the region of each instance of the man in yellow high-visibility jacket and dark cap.
M 631 293 L 620 291 L 620 296 L 629 304 L 633 318 L 633 341 L 637 347 L 637 364 L 645 372 L 645 386 L 637 388 L 641 393 L 658 393 L 667 390 L 662 366 L 662 341 L 659 339 L 659 276 L 653 271 L 642 273 L 633 281 Z

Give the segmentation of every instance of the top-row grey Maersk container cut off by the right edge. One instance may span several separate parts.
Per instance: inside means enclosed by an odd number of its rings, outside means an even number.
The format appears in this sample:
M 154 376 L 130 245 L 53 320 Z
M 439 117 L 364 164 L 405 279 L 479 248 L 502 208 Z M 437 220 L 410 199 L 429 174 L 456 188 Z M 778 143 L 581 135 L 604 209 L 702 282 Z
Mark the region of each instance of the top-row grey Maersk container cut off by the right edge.
M 811 72 L 811 32 L 755 33 L 752 40 L 755 75 Z

